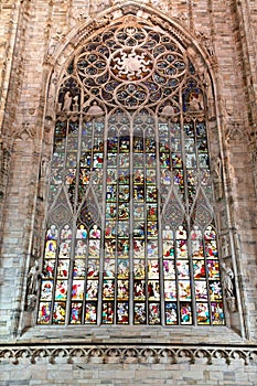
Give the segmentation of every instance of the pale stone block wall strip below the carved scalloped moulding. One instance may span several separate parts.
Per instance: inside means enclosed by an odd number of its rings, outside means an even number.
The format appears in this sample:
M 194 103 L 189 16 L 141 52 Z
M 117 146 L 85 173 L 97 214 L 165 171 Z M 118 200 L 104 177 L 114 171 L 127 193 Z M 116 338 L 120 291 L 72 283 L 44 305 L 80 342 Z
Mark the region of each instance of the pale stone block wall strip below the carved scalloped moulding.
M 4 367 L 3 367 L 4 366 Z M 181 361 L 178 364 L 99 364 L 46 363 L 42 358 L 30 365 L 2 365 L 0 373 L 1 386 L 35 386 L 35 385 L 107 385 L 107 386 L 141 386 L 141 385 L 176 385 L 176 386 L 255 386 L 256 367 L 242 366 L 237 361 L 233 365 L 224 365 L 219 360 L 213 365 L 189 364 Z

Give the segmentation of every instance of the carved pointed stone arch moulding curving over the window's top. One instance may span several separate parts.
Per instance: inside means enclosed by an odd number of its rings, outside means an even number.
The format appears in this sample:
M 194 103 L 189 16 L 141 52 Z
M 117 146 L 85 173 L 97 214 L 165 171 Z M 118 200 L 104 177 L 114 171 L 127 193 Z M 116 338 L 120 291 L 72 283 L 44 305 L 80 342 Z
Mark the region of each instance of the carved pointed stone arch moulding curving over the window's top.
M 81 44 L 85 42 L 93 33 L 94 30 L 96 30 L 96 33 L 99 33 L 105 26 L 111 25 L 111 23 L 118 22 L 120 18 L 124 17 L 121 14 L 122 12 L 126 13 L 128 12 L 135 12 L 137 13 L 139 11 L 143 10 L 143 20 L 150 20 L 152 25 L 162 25 L 164 30 L 169 30 L 169 33 L 173 34 L 175 39 L 181 42 L 182 45 L 186 46 L 188 53 L 192 58 L 196 58 L 196 62 L 199 62 L 199 68 L 197 71 L 202 74 L 204 82 L 211 83 L 211 99 L 216 100 L 215 96 L 218 95 L 217 93 L 217 85 L 218 82 L 215 79 L 215 72 L 213 68 L 213 57 L 210 56 L 208 52 L 205 51 L 203 47 L 201 47 L 201 44 L 197 42 L 197 40 L 185 29 L 180 25 L 178 21 L 171 20 L 163 14 L 160 14 L 159 12 L 154 11 L 146 6 L 141 4 L 139 6 L 138 3 L 133 1 L 128 1 L 122 6 L 122 10 L 119 6 L 116 6 L 109 10 L 106 10 L 101 12 L 94 22 L 82 22 L 81 25 L 73 30 L 65 39 L 65 42 L 62 42 L 58 46 L 56 46 L 53 55 L 46 57 L 45 61 L 45 68 L 46 68 L 46 78 L 49 82 L 46 84 L 50 85 L 50 87 L 46 90 L 47 94 L 47 100 L 49 101 L 55 101 L 55 96 L 56 96 L 56 87 L 58 83 L 61 82 L 61 76 L 62 76 L 62 68 L 65 67 L 65 63 L 69 61 L 72 55 L 74 54 L 74 51 L 78 50 Z M 150 14 L 148 15 L 147 14 Z M 118 15 L 120 14 L 120 18 L 117 17 L 117 19 L 113 19 L 113 15 Z M 194 62 L 195 63 L 195 62 Z M 52 84 L 52 86 L 51 86 Z M 51 131 L 52 130 L 52 121 L 54 120 L 54 111 L 55 108 L 49 107 L 51 104 L 45 105 L 45 128 L 46 130 Z M 219 115 L 217 114 L 218 111 L 218 104 L 217 101 L 213 103 L 212 108 L 210 109 L 210 114 L 213 118 L 213 111 L 215 116 L 215 120 L 218 126 L 218 137 L 219 137 L 219 142 L 222 139 L 221 136 L 221 121 L 219 121 Z M 222 156 L 222 149 L 219 150 L 219 154 Z M 240 324 L 240 330 L 242 334 L 244 335 L 244 329 L 243 329 L 243 321 L 240 321 L 238 324 Z

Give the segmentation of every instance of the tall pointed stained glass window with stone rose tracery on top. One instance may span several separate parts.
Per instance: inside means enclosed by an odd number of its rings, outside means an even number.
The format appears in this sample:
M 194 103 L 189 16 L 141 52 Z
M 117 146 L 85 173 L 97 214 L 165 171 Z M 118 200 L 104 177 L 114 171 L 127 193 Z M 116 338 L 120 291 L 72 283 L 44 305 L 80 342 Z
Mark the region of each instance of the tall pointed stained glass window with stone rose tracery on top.
M 56 100 L 39 324 L 224 324 L 206 95 L 173 36 L 108 26 Z

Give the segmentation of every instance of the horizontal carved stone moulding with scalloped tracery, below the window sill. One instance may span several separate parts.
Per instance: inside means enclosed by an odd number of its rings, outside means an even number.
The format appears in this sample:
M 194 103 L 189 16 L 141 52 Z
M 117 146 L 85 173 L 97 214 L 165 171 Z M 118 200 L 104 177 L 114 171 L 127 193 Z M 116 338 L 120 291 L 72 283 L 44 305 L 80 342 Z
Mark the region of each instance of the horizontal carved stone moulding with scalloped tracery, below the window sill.
M 45 358 L 51 364 L 56 360 L 73 363 L 128 363 L 128 364 L 178 364 L 186 360 L 194 364 L 197 360 L 215 364 L 224 360 L 227 365 L 242 360 L 245 365 L 257 364 L 257 345 L 182 345 L 182 344 L 23 344 L 0 345 L 0 363 L 18 365 L 23 361 L 36 364 Z

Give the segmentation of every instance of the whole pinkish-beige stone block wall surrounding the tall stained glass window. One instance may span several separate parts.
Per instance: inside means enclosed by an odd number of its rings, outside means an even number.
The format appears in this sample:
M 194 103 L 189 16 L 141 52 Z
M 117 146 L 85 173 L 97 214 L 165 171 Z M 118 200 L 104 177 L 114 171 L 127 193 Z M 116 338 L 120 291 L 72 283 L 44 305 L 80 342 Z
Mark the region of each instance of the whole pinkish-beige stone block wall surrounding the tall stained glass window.
M 31 261 L 42 250 L 46 181 L 41 176 L 53 143 L 52 116 L 51 110 L 46 110 L 47 84 L 51 74 L 60 71 L 72 55 L 74 31 L 79 35 L 83 25 L 89 25 L 99 12 L 104 17 L 104 11 L 113 7 L 118 13 L 124 3 L 129 1 L 6 0 L 0 6 L 3 21 L 0 25 L 0 339 L 3 350 L 0 384 L 254 386 L 257 318 L 256 1 L 141 1 L 146 8 L 162 12 L 191 34 L 192 42 L 208 57 L 214 74 L 216 104 L 208 114 L 210 120 L 215 118 L 218 125 L 213 124 L 208 139 L 212 159 L 219 157 L 223 160 L 224 192 L 216 208 L 222 251 L 233 264 L 237 297 L 237 311 L 227 312 L 227 326 L 218 332 L 197 326 L 183 331 L 169 331 L 162 326 L 124 330 L 101 326 L 74 332 L 69 328 L 35 326 L 35 313 L 25 310 Z M 131 1 L 131 9 L 139 3 Z M 62 55 L 63 52 L 66 56 Z M 214 357 L 210 366 L 197 355 L 194 364 L 189 363 L 186 355 L 182 358 L 178 355 L 178 363 L 162 356 L 141 358 L 141 362 L 137 357 L 131 360 L 135 363 L 113 363 L 114 358 L 108 355 L 104 361 L 103 356 L 97 360 L 96 355 L 88 363 L 73 358 L 72 364 L 57 357 L 54 364 L 49 363 L 49 358 L 38 357 L 35 364 L 31 364 L 31 357 L 28 357 L 14 366 L 4 354 L 4 350 L 9 350 L 4 344 L 9 343 L 67 344 L 77 340 L 83 344 L 82 335 L 93 345 L 97 342 L 126 344 L 126 339 L 135 346 L 143 342 L 149 347 L 153 343 L 192 343 L 195 346 L 218 343 L 224 344 L 228 352 L 232 344 L 234 349 L 239 347 L 240 358 L 233 358 L 229 364 L 229 361 Z M 122 339 L 122 335 L 126 336 Z M 242 354 L 247 351 L 247 345 L 254 352 L 249 366 L 245 366 Z M 105 361 L 107 363 L 103 363 Z

